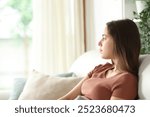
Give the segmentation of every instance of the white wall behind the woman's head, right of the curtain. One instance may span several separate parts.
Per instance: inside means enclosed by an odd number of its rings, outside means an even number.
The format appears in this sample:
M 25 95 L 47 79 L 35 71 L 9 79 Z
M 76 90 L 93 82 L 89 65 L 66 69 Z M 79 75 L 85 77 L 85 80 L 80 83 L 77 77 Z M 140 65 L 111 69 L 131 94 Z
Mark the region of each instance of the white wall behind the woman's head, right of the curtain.
M 135 0 L 86 0 L 86 10 L 87 50 L 92 50 L 98 48 L 105 23 L 115 19 L 133 19 L 136 6 Z

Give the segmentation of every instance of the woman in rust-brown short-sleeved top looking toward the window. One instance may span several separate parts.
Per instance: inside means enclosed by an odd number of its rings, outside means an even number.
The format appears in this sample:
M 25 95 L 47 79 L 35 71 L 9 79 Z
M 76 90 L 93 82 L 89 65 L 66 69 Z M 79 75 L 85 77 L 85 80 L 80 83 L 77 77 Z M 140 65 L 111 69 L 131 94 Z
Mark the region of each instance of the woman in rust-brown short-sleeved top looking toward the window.
M 112 64 L 96 66 L 69 93 L 60 99 L 81 95 L 91 100 L 132 100 L 137 97 L 140 35 L 129 19 L 106 24 L 98 43 L 101 57 Z

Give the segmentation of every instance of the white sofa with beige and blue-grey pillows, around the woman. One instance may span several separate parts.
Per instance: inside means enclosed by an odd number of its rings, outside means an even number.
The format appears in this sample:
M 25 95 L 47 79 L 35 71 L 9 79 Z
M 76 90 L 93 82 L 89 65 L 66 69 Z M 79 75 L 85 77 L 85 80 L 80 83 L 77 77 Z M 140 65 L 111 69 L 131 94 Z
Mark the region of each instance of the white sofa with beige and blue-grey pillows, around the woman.
M 150 55 L 139 58 L 138 95 L 140 100 L 150 99 Z M 67 73 L 44 74 L 34 70 L 31 78 L 16 78 L 10 100 L 58 99 L 71 90 L 96 65 L 110 62 L 100 58 L 98 50 L 91 50 L 78 57 Z

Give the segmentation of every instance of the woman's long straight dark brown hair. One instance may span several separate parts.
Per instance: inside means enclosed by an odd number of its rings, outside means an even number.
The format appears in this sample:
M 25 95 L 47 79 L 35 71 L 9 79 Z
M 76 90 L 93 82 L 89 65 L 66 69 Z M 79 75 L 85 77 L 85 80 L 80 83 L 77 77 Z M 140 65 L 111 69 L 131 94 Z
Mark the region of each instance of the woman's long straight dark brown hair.
M 119 58 L 121 69 L 138 76 L 140 34 L 130 19 L 108 22 L 107 29 L 114 41 L 114 55 Z

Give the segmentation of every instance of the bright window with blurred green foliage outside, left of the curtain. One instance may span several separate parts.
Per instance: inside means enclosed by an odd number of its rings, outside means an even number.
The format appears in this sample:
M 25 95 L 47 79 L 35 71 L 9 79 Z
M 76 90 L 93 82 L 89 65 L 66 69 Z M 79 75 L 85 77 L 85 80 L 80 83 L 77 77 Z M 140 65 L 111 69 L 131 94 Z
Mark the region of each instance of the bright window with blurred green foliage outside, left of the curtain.
M 31 23 L 32 0 L 0 1 L 0 89 L 28 73 Z

